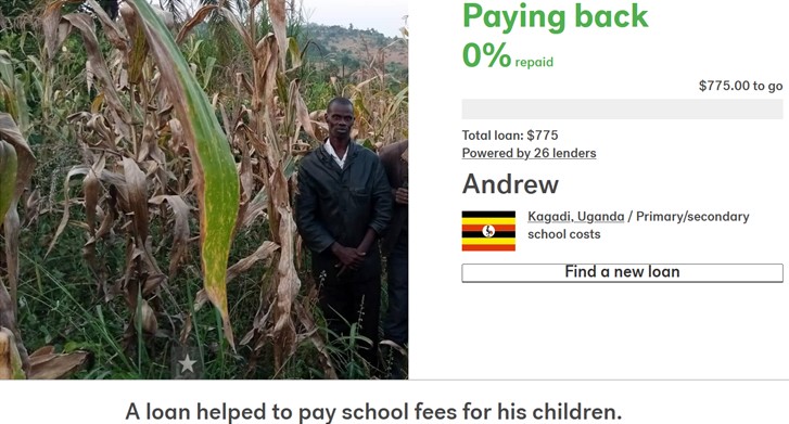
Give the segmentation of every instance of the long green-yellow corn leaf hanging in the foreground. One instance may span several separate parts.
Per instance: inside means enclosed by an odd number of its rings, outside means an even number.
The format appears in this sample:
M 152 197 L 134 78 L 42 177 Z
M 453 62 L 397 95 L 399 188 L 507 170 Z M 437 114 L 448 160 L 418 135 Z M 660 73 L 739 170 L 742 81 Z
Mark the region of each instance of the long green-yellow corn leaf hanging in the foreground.
M 233 345 L 227 306 L 226 274 L 239 210 L 239 175 L 227 138 L 167 27 L 145 0 L 129 0 L 143 27 L 162 80 L 167 87 L 192 157 L 200 206 L 204 288 L 222 317 Z M 122 13 L 130 13 L 122 9 Z

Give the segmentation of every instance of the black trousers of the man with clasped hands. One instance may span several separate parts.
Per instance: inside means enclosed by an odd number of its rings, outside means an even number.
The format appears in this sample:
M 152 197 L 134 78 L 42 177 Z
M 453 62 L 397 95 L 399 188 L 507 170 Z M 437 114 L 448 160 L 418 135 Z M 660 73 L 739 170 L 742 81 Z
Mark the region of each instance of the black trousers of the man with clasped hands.
M 373 258 L 368 258 L 373 259 Z M 374 258 L 378 259 L 378 258 Z M 379 267 L 380 270 L 380 267 Z M 336 272 L 336 271 L 334 271 Z M 373 368 L 378 367 L 378 323 L 381 318 L 381 274 L 367 278 L 348 272 L 329 278 L 320 290 L 320 309 L 329 326 L 329 341 L 351 342 L 351 326 L 357 324 L 356 334 L 369 338 L 369 344 L 355 341 L 358 354 Z

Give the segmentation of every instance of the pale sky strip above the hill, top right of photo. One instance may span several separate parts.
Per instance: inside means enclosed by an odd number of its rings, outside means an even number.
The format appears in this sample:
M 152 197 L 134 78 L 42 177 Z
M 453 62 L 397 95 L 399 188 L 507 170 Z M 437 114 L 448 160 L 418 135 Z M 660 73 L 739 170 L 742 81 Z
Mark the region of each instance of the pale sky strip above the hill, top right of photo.
M 372 28 L 395 37 L 406 24 L 403 16 L 408 14 L 408 0 L 302 0 L 302 8 L 314 24 L 354 24 L 355 28 Z

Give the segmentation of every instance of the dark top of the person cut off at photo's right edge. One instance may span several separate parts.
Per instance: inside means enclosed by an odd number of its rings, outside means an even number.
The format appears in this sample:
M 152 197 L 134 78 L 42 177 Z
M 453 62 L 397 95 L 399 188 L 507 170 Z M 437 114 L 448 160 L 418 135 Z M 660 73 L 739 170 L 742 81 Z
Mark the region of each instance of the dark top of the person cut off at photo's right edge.
M 394 192 L 398 188 L 408 188 L 408 160 L 403 157 L 404 152 L 408 150 L 408 140 L 392 143 L 379 153 L 383 169 L 386 172 L 386 179 L 392 188 L 392 201 L 394 202 Z M 394 203 L 394 215 L 386 235 L 381 241 L 381 250 L 384 255 L 389 255 L 394 248 L 400 234 L 408 231 L 408 205 Z

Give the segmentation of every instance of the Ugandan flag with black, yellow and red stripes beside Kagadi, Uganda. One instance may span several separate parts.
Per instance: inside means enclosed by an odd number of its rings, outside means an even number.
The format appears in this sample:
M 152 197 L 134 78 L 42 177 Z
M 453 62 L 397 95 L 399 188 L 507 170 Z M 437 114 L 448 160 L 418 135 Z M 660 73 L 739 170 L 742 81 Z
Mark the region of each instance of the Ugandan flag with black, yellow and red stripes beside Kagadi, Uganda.
M 514 252 L 514 210 L 463 210 L 463 252 Z

